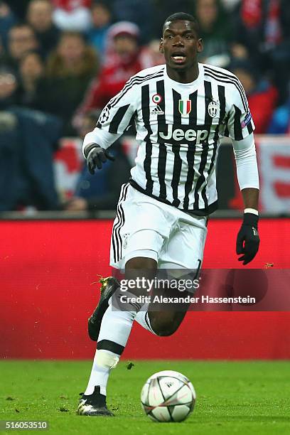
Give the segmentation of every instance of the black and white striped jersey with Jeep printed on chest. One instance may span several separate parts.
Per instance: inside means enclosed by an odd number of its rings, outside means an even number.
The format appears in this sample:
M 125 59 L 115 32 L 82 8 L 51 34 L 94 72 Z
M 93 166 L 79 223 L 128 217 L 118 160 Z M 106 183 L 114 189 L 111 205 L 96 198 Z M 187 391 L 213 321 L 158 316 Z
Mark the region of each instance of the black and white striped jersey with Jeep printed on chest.
M 254 124 L 237 77 L 198 65 L 197 80 L 186 84 L 171 80 L 166 65 L 131 77 L 104 107 L 83 149 L 92 142 L 108 148 L 133 118 L 139 150 L 131 185 L 177 208 L 208 215 L 218 206 L 220 137 L 239 141 L 252 133 Z

